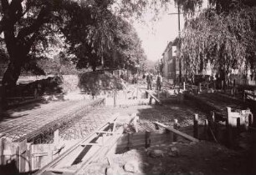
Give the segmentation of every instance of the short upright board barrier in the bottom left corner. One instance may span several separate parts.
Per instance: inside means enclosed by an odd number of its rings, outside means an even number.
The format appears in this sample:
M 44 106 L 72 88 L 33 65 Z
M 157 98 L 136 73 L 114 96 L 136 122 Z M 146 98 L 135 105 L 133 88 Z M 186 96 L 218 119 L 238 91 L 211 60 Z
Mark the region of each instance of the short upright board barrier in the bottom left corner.
M 32 173 L 58 157 L 60 149 L 57 142 L 32 144 L 24 140 L 12 143 L 6 138 L 0 138 L 0 174 Z

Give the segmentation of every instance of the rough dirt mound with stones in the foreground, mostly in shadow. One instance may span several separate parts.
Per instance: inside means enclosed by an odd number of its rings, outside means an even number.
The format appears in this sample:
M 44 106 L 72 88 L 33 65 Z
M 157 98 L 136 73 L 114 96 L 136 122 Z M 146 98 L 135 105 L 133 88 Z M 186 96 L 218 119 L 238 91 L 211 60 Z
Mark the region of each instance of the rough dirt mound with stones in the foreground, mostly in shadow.
M 161 155 L 152 156 L 154 150 Z M 110 174 L 255 174 L 255 164 L 248 163 L 248 158 L 246 152 L 215 143 L 172 143 L 111 155 L 108 160 L 91 164 L 84 173 L 105 174 L 105 168 L 108 171 L 114 167 L 115 173 Z M 124 170 L 127 164 L 130 172 Z

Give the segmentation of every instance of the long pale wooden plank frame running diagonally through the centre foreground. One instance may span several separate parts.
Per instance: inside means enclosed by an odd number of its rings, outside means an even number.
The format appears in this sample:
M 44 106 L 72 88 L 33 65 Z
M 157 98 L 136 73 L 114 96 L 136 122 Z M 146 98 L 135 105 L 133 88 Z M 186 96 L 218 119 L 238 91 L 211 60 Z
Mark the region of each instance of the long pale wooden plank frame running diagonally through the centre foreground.
M 130 117 L 121 118 L 115 114 L 115 119 L 110 120 L 104 127 L 96 129 L 88 138 L 84 138 L 76 143 L 73 147 L 66 150 L 58 158 L 48 163 L 44 168 L 38 170 L 36 174 L 44 173 L 70 173 L 80 174 L 84 168 L 97 159 L 106 157 L 114 147 L 118 138 L 125 130 L 124 123 L 133 122 L 136 124 L 136 114 Z M 119 126 L 119 128 L 117 128 Z M 123 126 L 123 127 L 122 127 Z M 58 139 L 57 139 L 58 140 Z M 84 150 L 89 149 L 84 153 Z M 83 158 L 81 154 L 84 154 Z M 73 163 L 81 162 L 78 168 L 72 168 Z

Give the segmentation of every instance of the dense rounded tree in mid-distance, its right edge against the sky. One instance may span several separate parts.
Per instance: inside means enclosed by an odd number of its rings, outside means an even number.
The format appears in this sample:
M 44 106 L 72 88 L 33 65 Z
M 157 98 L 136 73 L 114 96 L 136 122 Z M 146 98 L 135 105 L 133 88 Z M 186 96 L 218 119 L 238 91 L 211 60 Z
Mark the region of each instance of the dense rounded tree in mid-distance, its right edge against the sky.
M 100 12 L 96 14 L 95 11 Z M 131 67 L 145 60 L 141 41 L 135 28 L 123 18 L 98 4 L 97 10 L 80 7 L 72 15 L 83 14 L 82 20 L 70 17 L 63 31 L 69 43 L 69 53 L 74 54 L 74 62 L 79 68 Z

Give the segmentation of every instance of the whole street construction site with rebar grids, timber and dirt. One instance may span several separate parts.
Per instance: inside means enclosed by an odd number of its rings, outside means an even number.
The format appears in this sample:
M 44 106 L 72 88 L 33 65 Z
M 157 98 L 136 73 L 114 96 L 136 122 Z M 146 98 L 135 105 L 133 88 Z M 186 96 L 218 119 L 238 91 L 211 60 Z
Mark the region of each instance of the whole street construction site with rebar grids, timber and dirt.
M 1 174 L 256 173 L 253 91 L 93 73 L 47 93 L 45 81 L 1 113 Z

